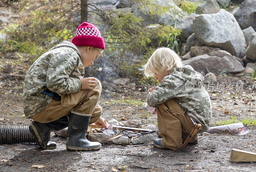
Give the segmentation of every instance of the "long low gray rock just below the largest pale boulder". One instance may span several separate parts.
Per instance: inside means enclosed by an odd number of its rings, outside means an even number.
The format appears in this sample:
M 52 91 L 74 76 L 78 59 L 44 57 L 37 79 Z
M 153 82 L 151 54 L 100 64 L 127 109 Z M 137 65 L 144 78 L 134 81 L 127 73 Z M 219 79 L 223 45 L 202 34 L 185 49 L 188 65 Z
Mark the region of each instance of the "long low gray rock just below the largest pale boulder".
M 204 73 L 208 73 L 206 68 L 215 75 L 219 75 L 221 71 L 225 70 L 228 73 L 240 73 L 244 70 L 244 67 L 238 62 L 233 56 L 209 56 L 207 54 L 193 57 L 188 60 L 184 60 L 183 64 L 191 65 L 194 70 L 198 72 L 204 71 Z

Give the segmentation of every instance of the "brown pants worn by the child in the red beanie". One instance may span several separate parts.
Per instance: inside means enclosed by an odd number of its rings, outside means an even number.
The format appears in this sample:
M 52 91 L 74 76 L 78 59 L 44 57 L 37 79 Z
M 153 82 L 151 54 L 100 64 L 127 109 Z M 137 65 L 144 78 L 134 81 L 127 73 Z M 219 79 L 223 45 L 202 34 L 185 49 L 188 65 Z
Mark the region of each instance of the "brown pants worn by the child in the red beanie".
M 88 90 L 80 90 L 72 94 L 60 94 L 61 101 L 53 100 L 40 113 L 31 118 L 40 123 L 49 123 L 60 119 L 63 116 L 69 116 L 70 110 L 74 109 L 78 113 L 92 114 L 89 124 L 96 122 L 102 113 L 98 101 L 101 93 L 101 83 L 96 79 L 95 87 L 89 91 L 88 98 L 86 98 Z

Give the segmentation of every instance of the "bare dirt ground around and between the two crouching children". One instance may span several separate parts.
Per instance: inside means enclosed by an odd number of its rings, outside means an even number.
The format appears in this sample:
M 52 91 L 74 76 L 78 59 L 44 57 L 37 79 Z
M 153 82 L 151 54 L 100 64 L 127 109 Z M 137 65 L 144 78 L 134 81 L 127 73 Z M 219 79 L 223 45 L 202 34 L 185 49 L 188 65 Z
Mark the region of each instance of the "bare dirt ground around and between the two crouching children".
M 21 64 L 22 65 L 22 64 Z M 22 69 L 20 69 L 22 70 Z M 12 73 L 0 74 L 0 126 L 29 125 L 31 119 L 22 117 L 22 80 L 24 76 Z M 249 101 L 254 95 L 248 77 L 240 74 L 218 76 L 219 82 L 244 83 L 243 89 L 225 87 L 223 90 L 209 90 L 212 106 L 212 126 L 219 121 L 255 118 L 255 101 Z M 100 105 L 103 117 L 108 121 L 115 118 L 122 121 L 138 119 L 144 124 L 156 124 L 157 118 L 148 115 L 143 107 L 149 86 L 115 86 L 103 82 Z M 147 88 L 145 88 L 147 87 Z M 234 96 L 236 95 L 236 96 Z M 128 101 L 127 101 L 128 100 Z M 228 114 L 225 114 L 228 111 Z M 229 162 L 231 148 L 256 152 L 255 126 L 246 126 L 249 131 L 243 136 L 211 134 L 199 135 L 197 145 L 188 145 L 184 150 L 173 151 L 153 146 L 153 143 L 120 146 L 105 144 L 98 151 L 69 152 L 65 138 L 52 134 L 57 143 L 53 150 L 40 149 L 36 144 L 1 144 L 0 171 L 117 171 L 118 166 L 127 166 L 124 171 L 256 171 L 253 162 Z M 43 168 L 32 168 L 43 165 Z M 120 169 L 119 171 L 122 171 Z

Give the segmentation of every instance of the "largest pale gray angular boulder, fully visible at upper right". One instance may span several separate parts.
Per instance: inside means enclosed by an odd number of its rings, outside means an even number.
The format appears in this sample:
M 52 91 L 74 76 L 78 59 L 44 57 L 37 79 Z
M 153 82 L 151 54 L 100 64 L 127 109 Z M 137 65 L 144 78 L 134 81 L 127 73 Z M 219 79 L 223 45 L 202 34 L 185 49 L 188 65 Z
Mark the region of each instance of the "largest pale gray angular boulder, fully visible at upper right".
M 226 50 L 234 56 L 245 54 L 245 38 L 233 14 L 221 9 L 216 14 L 201 14 L 193 21 L 196 38 L 212 47 Z

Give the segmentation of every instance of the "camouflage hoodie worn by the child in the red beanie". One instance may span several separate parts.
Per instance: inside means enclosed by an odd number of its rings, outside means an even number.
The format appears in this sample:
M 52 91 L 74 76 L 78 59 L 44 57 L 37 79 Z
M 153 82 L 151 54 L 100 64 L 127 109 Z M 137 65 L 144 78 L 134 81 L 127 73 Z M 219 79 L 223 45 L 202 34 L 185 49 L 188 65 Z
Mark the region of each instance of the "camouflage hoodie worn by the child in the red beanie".
M 26 118 L 43 111 L 52 97 L 41 93 L 46 87 L 55 93 L 79 92 L 84 76 L 81 54 L 74 44 L 63 41 L 40 56 L 24 80 L 23 108 Z

